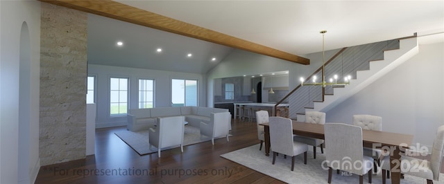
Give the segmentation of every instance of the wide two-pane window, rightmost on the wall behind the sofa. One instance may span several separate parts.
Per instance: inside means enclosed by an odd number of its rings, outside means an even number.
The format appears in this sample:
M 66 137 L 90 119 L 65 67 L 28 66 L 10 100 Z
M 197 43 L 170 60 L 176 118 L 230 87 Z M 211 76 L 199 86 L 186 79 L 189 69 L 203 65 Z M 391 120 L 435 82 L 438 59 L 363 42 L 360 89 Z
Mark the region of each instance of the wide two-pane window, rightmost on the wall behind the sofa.
M 197 106 L 197 80 L 171 80 L 171 106 Z

